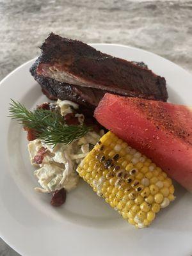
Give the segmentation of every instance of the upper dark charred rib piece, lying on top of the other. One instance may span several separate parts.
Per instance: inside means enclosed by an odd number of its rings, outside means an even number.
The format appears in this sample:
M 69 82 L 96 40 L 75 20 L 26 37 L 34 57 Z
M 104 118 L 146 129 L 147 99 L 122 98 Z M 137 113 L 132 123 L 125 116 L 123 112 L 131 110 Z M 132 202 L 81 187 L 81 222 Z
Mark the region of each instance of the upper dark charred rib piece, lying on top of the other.
M 51 33 L 41 47 L 36 74 L 79 88 L 166 101 L 166 82 L 147 68 L 115 58 L 77 40 Z M 84 92 L 83 92 L 84 95 Z

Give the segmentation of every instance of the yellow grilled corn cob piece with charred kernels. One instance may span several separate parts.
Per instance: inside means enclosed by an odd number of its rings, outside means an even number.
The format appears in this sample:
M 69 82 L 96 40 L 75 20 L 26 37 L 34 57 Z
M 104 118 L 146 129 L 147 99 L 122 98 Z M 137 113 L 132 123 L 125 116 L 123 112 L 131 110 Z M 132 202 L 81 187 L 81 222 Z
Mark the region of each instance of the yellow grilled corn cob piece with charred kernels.
M 97 195 L 138 228 L 150 225 L 156 213 L 175 198 L 166 173 L 112 132 L 100 139 L 77 172 Z

